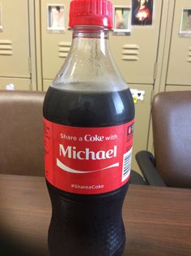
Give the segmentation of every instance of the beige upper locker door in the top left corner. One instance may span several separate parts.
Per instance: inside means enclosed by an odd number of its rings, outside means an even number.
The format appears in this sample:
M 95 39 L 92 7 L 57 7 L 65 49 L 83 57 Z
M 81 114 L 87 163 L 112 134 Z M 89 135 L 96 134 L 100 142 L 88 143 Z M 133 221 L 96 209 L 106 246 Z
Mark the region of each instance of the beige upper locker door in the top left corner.
M 0 76 L 30 78 L 28 1 L 1 0 Z

